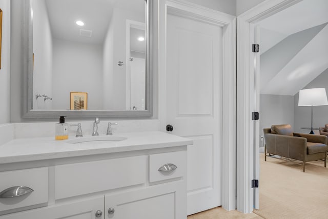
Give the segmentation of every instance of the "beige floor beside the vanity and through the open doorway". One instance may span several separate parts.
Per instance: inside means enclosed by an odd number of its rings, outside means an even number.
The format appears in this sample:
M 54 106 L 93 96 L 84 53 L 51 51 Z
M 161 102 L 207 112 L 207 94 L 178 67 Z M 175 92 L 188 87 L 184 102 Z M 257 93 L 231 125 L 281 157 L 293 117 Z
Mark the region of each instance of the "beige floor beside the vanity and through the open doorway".
M 251 214 L 221 207 L 188 216 L 188 219 L 218 218 L 328 218 L 328 168 L 323 161 L 305 164 L 260 155 L 260 209 Z

